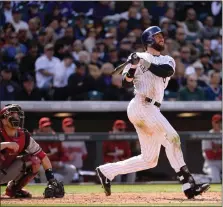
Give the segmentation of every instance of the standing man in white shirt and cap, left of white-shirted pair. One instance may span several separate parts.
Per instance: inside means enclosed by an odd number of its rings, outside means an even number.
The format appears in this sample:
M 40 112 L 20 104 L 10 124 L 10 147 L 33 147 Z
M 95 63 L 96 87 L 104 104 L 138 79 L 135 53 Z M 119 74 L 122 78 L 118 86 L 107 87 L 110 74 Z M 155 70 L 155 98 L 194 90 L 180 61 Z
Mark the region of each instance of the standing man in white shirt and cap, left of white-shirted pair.
M 53 56 L 53 44 L 44 47 L 44 55 L 35 63 L 36 83 L 40 89 L 48 90 L 52 85 L 54 67 L 60 60 Z

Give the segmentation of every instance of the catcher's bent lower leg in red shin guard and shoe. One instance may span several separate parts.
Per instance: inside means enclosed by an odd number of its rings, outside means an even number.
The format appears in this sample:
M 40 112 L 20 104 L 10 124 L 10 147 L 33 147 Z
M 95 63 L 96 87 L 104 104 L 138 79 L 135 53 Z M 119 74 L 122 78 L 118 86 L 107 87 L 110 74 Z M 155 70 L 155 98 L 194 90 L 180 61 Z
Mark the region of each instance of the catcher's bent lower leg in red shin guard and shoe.
M 36 156 L 21 156 L 24 162 L 24 168 L 20 176 L 10 181 L 6 188 L 6 195 L 15 198 L 31 198 L 32 195 L 22 188 L 27 185 L 38 173 L 40 168 L 40 159 Z

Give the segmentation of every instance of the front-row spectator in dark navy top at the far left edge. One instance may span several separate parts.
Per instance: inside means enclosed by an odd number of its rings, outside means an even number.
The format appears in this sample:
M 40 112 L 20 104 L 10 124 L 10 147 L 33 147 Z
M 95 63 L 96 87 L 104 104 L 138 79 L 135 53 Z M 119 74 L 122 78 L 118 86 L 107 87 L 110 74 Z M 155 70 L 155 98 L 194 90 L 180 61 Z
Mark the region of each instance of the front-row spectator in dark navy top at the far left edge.
M 20 91 L 20 87 L 16 82 L 12 81 L 12 68 L 9 65 L 2 64 L 0 69 L 0 100 L 13 101 L 16 93 Z

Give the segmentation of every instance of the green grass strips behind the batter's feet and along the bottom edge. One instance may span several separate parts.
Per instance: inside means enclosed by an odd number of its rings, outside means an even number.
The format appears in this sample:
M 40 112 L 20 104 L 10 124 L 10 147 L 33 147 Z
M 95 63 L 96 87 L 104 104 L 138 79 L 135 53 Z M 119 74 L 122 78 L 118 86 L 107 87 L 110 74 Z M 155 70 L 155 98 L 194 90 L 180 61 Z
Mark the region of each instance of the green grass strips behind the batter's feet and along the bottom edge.
M 42 195 L 44 191 L 44 185 L 29 185 L 26 187 L 27 190 L 32 192 L 33 194 Z M 5 186 L 1 187 L 1 194 L 4 192 Z M 65 186 L 66 193 L 102 193 L 103 190 L 100 185 L 66 185 Z M 221 192 L 220 184 L 213 184 L 209 189 L 209 192 Z M 179 184 L 145 184 L 145 185 L 112 185 L 112 192 L 116 193 L 155 193 L 155 192 L 182 192 L 181 185 Z M 33 200 L 33 206 L 35 206 L 35 200 Z M 193 203 L 169 203 L 169 204 L 138 204 L 137 206 L 221 206 L 221 204 L 193 204 Z M 1 204 L 0 204 L 1 206 Z M 13 206 L 13 204 L 7 204 L 4 206 Z M 16 205 L 16 206 L 28 206 L 27 204 Z M 29 204 L 30 206 L 30 204 Z M 38 206 L 41 206 L 38 204 Z M 49 204 L 44 206 L 136 206 L 136 204 L 89 204 L 89 205 L 81 205 L 81 204 Z

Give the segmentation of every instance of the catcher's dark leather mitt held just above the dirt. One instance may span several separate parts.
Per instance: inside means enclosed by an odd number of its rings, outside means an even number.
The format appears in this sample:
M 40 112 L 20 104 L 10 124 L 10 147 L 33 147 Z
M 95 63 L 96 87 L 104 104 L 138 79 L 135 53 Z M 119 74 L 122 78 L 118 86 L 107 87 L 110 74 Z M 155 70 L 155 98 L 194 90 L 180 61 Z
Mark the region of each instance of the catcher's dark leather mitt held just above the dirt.
M 44 198 L 63 198 L 65 194 L 63 182 L 52 179 L 44 190 Z

